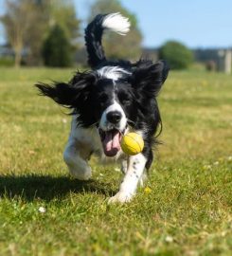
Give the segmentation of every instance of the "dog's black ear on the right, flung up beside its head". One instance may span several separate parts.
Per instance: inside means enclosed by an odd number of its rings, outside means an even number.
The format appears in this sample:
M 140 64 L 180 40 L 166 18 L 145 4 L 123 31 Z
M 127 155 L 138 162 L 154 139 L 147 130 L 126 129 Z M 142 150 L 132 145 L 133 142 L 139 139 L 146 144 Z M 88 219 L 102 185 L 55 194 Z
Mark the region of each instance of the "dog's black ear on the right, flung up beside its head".
M 169 70 L 165 61 L 141 64 L 134 70 L 132 84 L 137 91 L 145 93 L 148 97 L 156 96 L 166 81 Z

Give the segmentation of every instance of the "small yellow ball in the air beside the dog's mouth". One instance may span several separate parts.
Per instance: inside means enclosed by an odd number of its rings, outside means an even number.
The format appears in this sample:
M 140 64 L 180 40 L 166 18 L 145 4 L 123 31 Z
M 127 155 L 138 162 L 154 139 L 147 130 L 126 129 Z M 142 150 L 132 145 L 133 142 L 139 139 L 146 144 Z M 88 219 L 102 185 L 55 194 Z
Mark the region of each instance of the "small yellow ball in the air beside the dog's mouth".
M 137 155 L 143 148 L 143 138 L 136 133 L 128 133 L 121 139 L 121 149 L 127 155 Z

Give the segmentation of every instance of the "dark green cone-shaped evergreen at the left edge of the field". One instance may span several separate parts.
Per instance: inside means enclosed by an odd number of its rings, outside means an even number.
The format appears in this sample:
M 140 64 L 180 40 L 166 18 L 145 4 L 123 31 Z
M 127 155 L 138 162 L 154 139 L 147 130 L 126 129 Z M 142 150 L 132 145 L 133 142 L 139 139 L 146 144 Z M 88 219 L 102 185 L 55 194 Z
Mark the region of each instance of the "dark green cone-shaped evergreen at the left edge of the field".
M 43 58 L 48 66 L 69 66 L 71 64 L 71 45 L 62 27 L 51 27 L 43 47 Z

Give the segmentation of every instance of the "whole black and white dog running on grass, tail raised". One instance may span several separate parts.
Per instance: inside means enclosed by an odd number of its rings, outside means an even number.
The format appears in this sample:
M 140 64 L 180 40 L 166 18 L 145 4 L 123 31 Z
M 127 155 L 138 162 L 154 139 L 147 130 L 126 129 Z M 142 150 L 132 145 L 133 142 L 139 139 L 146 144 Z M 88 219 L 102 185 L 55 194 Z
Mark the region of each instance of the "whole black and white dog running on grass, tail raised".
M 70 82 L 39 83 L 40 92 L 72 110 L 71 133 L 63 153 L 70 174 L 91 177 L 92 154 L 121 161 L 124 178 L 110 202 L 128 202 L 143 184 L 152 164 L 154 134 L 161 122 L 156 96 L 169 67 L 164 61 L 108 61 L 101 46 L 105 29 L 125 35 L 130 23 L 120 13 L 99 14 L 85 29 L 88 64 L 92 70 L 77 72 Z M 145 142 L 142 153 L 127 156 L 121 137 L 134 131 Z

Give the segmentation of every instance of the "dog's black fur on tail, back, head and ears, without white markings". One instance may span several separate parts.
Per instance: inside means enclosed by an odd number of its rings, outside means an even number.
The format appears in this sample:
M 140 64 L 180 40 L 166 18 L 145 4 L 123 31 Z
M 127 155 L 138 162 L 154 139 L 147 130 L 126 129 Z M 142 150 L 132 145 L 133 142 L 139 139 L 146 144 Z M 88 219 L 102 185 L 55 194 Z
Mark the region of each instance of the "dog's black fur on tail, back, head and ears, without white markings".
M 152 143 L 161 123 L 156 97 L 167 79 L 169 67 L 164 61 L 152 63 L 140 60 L 135 64 L 128 61 L 107 61 L 101 46 L 102 22 L 105 15 L 98 15 L 85 29 L 88 64 L 92 71 L 76 75 L 70 82 L 38 83 L 41 94 L 79 114 L 77 124 L 81 127 L 97 125 L 103 111 L 112 104 L 115 95 L 134 130 L 144 131 L 145 147 L 143 154 L 152 164 Z M 99 68 L 117 66 L 125 72 L 116 81 L 99 75 Z

